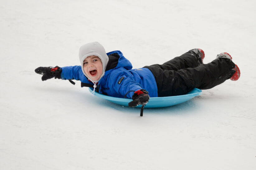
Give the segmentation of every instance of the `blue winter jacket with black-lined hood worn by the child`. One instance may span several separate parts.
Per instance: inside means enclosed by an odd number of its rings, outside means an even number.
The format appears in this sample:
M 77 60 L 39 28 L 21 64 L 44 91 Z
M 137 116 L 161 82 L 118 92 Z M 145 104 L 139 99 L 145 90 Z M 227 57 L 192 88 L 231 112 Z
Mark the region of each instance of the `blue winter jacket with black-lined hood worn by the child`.
M 158 97 L 156 81 L 149 69 L 132 69 L 130 61 L 123 56 L 121 51 L 112 51 L 107 55 L 109 57 L 108 66 L 105 75 L 98 82 L 97 92 L 124 98 L 130 90 L 145 89 L 149 92 L 150 97 Z M 119 58 L 115 58 L 113 55 Z M 83 74 L 81 66 L 62 67 L 61 78 L 63 80 L 80 80 L 82 83 L 93 85 Z M 134 92 L 130 92 L 126 97 L 132 98 L 133 94 Z

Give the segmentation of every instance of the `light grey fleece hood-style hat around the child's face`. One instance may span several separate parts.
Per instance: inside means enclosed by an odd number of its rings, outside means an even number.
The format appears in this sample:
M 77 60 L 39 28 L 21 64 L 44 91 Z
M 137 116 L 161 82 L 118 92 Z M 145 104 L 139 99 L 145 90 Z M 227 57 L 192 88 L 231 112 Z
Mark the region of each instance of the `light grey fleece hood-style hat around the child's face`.
M 98 82 L 105 74 L 105 70 L 107 67 L 107 63 L 108 63 L 108 56 L 106 54 L 106 51 L 104 49 L 104 47 L 98 43 L 98 42 L 92 42 L 92 43 L 88 43 L 88 44 L 84 44 L 80 47 L 79 49 L 79 60 L 81 63 L 81 67 L 82 67 L 82 71 L 83 74 L 89 79 L 89 76 L 87 76 L 83 70 L 83 61 L 85 58 L 89 57 L 89 56 L 98 56 L 101 59 L 102 62 L 102 75 L 100 76 L 100 78 L 98 80 L 96 80 L 96 82 Z M 93 80 L 91 80 L 92 82 L 94 82 Z

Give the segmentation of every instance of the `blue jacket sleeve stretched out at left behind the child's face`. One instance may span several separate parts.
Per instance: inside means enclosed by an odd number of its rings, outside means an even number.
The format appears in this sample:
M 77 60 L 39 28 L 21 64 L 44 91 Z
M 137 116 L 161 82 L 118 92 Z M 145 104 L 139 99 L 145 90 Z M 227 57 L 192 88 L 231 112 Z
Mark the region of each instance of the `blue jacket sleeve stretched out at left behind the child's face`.
M 61 79 L 63 80 L 81 80 L 81 72 L 83 73 L 81 66 L 68 66 L 61 67 Z

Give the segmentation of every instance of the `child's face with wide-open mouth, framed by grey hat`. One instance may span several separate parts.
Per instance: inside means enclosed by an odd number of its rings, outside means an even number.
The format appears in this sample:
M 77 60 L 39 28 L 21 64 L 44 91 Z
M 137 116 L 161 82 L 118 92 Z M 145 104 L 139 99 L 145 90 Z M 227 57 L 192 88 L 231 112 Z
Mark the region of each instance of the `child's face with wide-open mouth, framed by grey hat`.
M 83 70 L 93 81 L 96 81 L 102 75 L 102 62 L 97 56 L 89 56 L 83 61 Z

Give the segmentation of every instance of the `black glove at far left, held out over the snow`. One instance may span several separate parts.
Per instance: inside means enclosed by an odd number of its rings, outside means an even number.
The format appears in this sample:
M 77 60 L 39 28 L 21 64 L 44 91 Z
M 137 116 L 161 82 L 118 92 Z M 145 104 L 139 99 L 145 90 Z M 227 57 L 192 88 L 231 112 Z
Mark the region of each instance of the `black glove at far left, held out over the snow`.
M 55 78 L 55 79 L 61 79 L 61 72 L 62 72 L 62 68 L 55 66 L 55 67 L 38 67 L 36 68 L 35 72 L 37 74 L 41 74 L 42 76 L 42 81 L 44 80 L 48 80 L 51 78 Z

